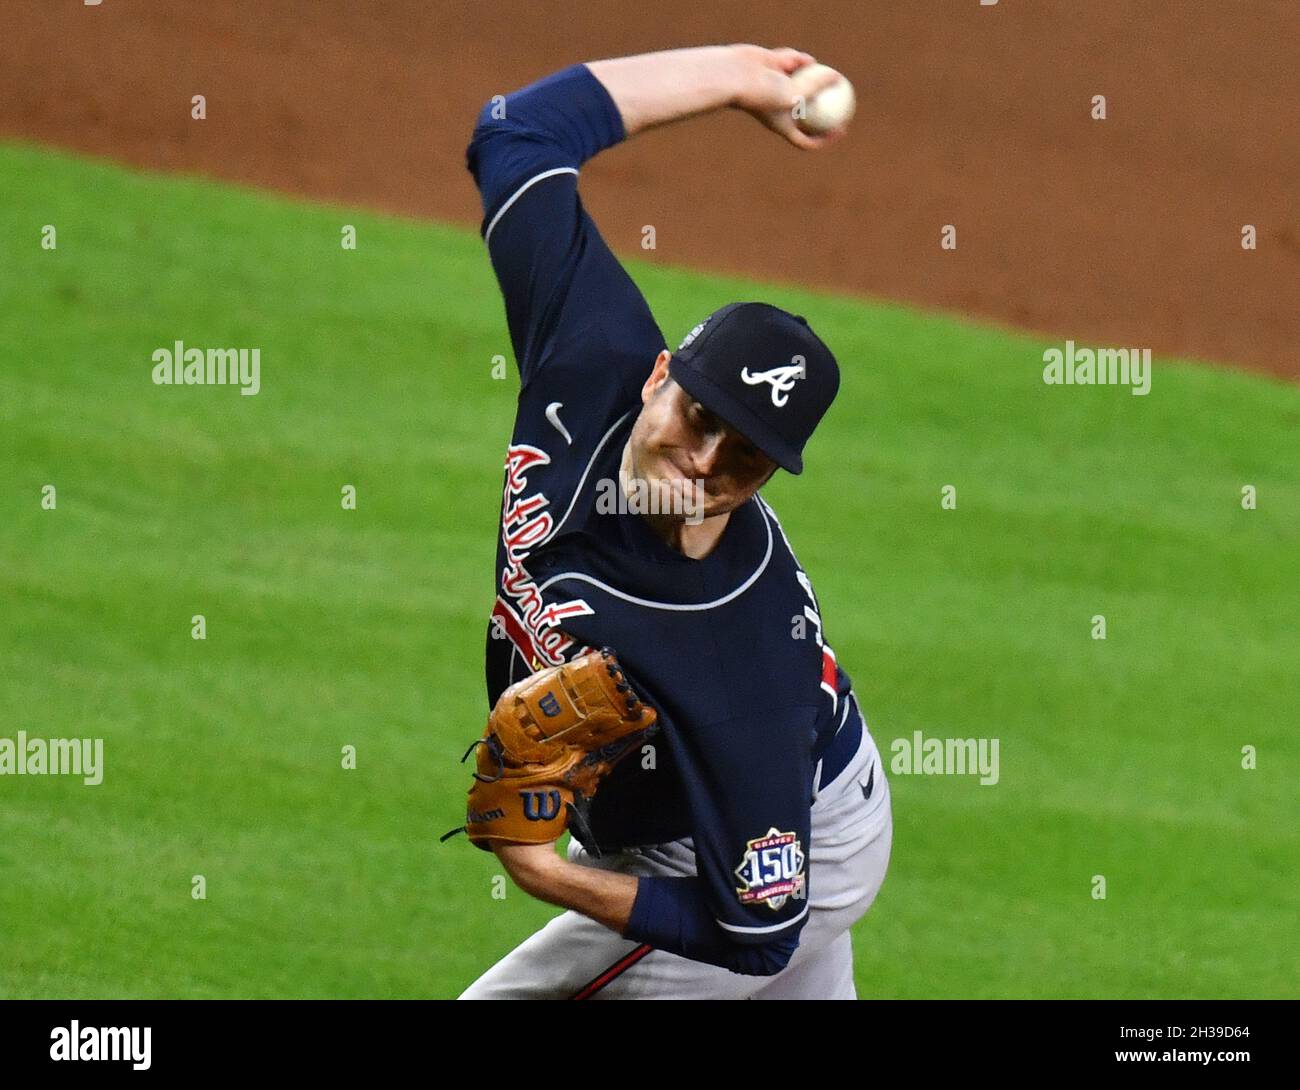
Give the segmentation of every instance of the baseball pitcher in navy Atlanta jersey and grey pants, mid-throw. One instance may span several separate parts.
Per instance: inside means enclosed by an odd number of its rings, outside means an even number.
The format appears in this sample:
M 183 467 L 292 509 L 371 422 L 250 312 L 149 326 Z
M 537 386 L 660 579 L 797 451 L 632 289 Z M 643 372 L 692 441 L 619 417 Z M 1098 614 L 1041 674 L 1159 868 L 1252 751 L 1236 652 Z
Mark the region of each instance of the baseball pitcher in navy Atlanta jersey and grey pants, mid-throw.
M 464 827 L 567 911 L 462 998 L 855 995 L 849 927 L 889 864 L 889 784 L 759 494 L 802 472 L 836 359 L 758 302 L 670 351 L 577 190 L 604 148 L 724 107 L 822 148 L 842 133 L 793 117 L 809 64 L 723 46 L 575 65 L 473 130 L 520 393 Z

